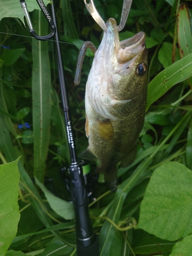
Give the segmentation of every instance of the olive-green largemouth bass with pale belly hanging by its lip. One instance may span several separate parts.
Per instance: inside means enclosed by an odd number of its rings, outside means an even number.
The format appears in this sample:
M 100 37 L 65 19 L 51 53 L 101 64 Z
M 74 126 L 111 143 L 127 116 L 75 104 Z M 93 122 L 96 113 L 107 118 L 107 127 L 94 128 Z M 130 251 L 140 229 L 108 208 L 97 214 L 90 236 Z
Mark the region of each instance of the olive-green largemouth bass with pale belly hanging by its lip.
M 106 23 L 86 84 L 86 135 L 89 146 L 81 157 L 100 164 L 98 173 L 116 189 L 117 164 L 134 160 L 147 95 L 145 34 L 119 41 L 117 23 Z

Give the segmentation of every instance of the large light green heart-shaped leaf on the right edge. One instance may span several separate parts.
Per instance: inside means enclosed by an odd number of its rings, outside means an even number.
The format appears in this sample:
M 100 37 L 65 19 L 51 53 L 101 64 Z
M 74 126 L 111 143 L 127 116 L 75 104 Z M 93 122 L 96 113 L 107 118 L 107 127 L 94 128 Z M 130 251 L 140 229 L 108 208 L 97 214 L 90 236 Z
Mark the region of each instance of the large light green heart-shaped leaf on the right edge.
M 137 228 L 170 241 L 190 234 L 191 183 L 192 171 L 183 164 L 167 162 L 159 166 L 141 202 Z

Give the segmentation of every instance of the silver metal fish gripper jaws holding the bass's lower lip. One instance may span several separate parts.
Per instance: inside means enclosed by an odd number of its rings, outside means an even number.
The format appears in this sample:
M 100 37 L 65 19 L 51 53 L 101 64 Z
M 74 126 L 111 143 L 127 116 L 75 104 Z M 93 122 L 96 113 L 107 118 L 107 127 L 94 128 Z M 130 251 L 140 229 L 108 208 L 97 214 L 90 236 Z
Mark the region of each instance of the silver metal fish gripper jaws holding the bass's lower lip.
M 89 2 L 89 3 L 87 3 L 87 2 Z M 91 14 L 91 16 L 96 21 L 96 23 L 99 25 L 99 27 L 101 27 L 101 29 L 103 31 L 106 31 L 106 23 L 104 22 L 104 20 L 101 18 L 100 14 L 98 13 L 93 0 L 84 0 L 84 4 L 86 5 L 88 12 Z M 120 32 L 125 26 L 127 17 L 129 15 L 129 12 L 131 9 L 131 5 L 132 5 L 132 0 L 124 0 L 123 1 L 121 20 L 120 20 L 119 26 L 117 27 L 118 32 Z

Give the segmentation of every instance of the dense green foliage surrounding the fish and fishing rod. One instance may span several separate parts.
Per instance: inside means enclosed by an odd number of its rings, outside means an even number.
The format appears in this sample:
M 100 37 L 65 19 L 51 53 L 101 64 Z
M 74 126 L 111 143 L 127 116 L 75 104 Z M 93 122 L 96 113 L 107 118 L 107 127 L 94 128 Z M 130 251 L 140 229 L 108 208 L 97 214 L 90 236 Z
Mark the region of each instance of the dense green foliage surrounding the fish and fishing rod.
M 54 44 L 31 38 L 19 1 L 0 2 L 0 254 L 76 255 L 73 206 L 60 176 L 69 151 Z M 26 2 L 30 11 L 38 9 L 35 0 Z M 119 23 L 122 0 L 94 3 L 105 21 Z M 54 5 L 79 154 L 88 145 L 84 90 L 94 55 L 87 52 L 74 87 L 78 50 L 86 40 L 98 47 L 102 30 L 82 0 Z M 133 0 L 120 32 L 121 40 L 146 33 L 150 83 L 135 161 L 119 166 L 116 193 L 106 191 L 102 177 L 95 185 L 90 215 L 101 256 L 191 255 L 190 8 L 189 1 Z M 36 33 L 48 34 L 42 13 L 30 15 Z

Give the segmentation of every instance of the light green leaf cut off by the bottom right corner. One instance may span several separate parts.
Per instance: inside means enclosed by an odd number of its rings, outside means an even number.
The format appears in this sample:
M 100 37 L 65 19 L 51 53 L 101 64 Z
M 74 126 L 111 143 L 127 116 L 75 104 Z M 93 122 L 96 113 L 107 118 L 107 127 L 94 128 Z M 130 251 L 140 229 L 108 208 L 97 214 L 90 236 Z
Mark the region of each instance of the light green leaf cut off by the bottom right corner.
M 192 234 L 174 245 L 169 256 L 189 256 L 192 251 Z

